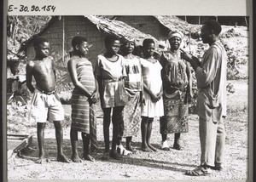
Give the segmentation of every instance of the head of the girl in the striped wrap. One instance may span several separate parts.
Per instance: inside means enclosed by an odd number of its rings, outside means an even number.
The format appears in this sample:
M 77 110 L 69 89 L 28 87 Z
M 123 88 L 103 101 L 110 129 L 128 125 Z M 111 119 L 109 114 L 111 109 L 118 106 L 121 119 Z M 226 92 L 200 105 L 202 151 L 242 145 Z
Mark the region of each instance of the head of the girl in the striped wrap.
M 75 54 L 85 56 L 88 53 L 89 44 L 85 37 L 75 36 L 71 43 Z

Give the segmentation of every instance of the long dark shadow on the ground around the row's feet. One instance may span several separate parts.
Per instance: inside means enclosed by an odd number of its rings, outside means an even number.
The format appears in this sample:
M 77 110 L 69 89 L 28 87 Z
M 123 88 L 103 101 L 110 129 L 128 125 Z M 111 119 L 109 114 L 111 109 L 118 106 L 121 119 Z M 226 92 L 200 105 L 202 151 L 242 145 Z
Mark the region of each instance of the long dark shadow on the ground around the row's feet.
M 56 151 L 56 141 L 55 139 L 45 139 L 44 140 L 45 144 L 45 157 L 49 159 L 50 162 L 56 162 L 55 158 L 57 156 L 57 151 Z M 164 170 L 172 170 L 175 172 L 182 172 L 184 173 L 186 170 L 183 169 L 183 167 L 191 167 L 195 168 L 195 165 L 189 165 L 185 163 L 178 163 L 178 162 L 170 162 L 172 159 L 166 158 L 166 161 L 160 161 L 157 160 L 158 154 L 160 155 L 163 154 L 163 152 L 171 152 L 171 151 L 161 151 L 160 150 L 160 145 L 154 145 L 158 149 L 158 151 L 155 152 L 143 152 L 140 150 L 141 143 L 140 142 L 133 142 L 132 145 L 134 148 L 137 150 L 135 154 L 132 154 L 131 156 L 124 156 L 123 159 L 121 160 L 114 160 L 112 158 L 109 159 L 102 159 L 102 154 L 104 152 L 104 142 L 103 141 L 98 141 L 98 148 L 96 151 L 91 153 L 91 156 L 95 157 L 96 162 L 101 161 L 101 162 L 113 162 L 113 163 L 123 163 L 123 164 L 128 164 L 132 166 L 141 166 L 141 167 L 147 167 L 147 168 L 159 168 L 159 169 L 164 169 Z M 70 145 L 70 140 L 69 139 L 64 139 L 63 140 L 63 151 L 64 154 L 67 157 L 70 157 L 72 154 L 72 149 Z M 79 156 L 82 156 L 83 153 L 83 144 L 82 141 L 79 140 Z M 181 151 L 183 152 L 183 151 Z M 18 157 L 21 157 L 25 160 L 36 162 L 38 159 L 38 143 L 37 139 L 35 139 L 34 142 L 32 142 L 32 145 L 29 145 L 25 149 L 20 151 L 20 154 L 17 155 Z M 173 157 L 172 157 L 173 158 Z

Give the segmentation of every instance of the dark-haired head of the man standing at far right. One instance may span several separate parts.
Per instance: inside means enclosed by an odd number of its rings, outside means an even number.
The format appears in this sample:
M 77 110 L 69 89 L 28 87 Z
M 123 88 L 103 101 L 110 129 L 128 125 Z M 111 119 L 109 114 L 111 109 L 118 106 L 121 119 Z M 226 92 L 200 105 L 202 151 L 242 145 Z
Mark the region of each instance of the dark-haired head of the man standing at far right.
M 200 37 L 203 43 L 214 43 L 221 32 L 221 26 L 216 20 L 208 20 L 201 26 Z

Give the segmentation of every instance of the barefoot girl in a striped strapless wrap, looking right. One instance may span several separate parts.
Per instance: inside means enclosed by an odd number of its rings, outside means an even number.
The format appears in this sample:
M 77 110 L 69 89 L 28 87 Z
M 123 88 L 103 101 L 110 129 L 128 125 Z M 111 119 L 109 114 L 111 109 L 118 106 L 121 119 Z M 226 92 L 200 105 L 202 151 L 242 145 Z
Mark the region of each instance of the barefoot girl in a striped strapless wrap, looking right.
M 89 44 L 85 37 L 73 37 L 73 56 L 67 63 L 74 89 L 72 93 L 72 124 L 70 139 L 72 145 L 72 161 L 82 162 L 79 158 L 78 132 L 81 132 L 84 155 L 88 161 L 95 161 L 89 154 L 90 139 L 92 147 L 96 148 L 96 113 L 95 103 L 98 100 L 98 86 L 93 74 L 91 62 L 85 58 Z M 92 148 L 92 149 L 94 149 Z

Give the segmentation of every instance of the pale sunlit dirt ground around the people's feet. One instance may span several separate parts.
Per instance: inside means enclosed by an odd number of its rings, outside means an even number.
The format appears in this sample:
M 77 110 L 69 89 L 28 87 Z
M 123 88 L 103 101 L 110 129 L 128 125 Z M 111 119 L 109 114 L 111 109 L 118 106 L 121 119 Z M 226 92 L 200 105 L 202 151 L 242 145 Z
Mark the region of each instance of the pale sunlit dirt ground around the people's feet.
M 200 162 L 200 141 L 198 133 L 198 117 L 189 115 L 189 133 L 182 134 L 183 151 L 161 151 L 160 150 L 160 127 L 159 121 L 155 119 L 153 124 L 152 144 L 158 148 L 156 152 L 143 152 L 140 150 L 141 135 L 133 137 L 132 145 L 137 149 L 136 154 L 124 157 L 121 161 L 113 159 L 102 160 L 103 136 L 102 118 L 97 122 L 98 150 L 92 154 L 96 162 L 83 161 L 81 163 L 56 162 L 55 131 L 53 123 L 48 123 L 45 129 L 46 155 L 51 162 L 37 164 L 38 143 L 35 123 L 30 123 L 23 117 L 23 122 L 18 122 L 21 134 L 32 134 L 32 145 L 20 152 L 20 157 L 11 156 L 8 159 L 8 179 L 198 179 L 212 180 L 246 180 L 248 162 L 248 99 L 247 80 L 232 82 L 235 93 L 228 94 L 228 117 L 225 120 L 226 148 L 225 168 L 222 172 L 212 171 L 208 176 L 190 177 L 184 175 L 186 170 L 193 169 Z M 64 129 L 64 153 L 71 156 L 71 145 L 69 138 L 70 130 L 70 106 L 65 105 L 67 120 L 63 122 Z M 20 118 L 9 116 L 9 128 L 17 125 Z M 17 133 L 10 130 L 9 133 Z M 19 132 L 20 134 L 20 132 Z M 123 140 L 125 145 L 125 139 Z M 82 142 L 79 137 L 79 153 L 82 154 Z M 173 135 L 168 135 L 169 145 L 172 146 Z

